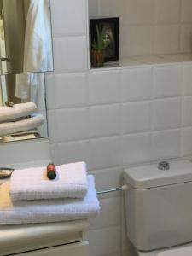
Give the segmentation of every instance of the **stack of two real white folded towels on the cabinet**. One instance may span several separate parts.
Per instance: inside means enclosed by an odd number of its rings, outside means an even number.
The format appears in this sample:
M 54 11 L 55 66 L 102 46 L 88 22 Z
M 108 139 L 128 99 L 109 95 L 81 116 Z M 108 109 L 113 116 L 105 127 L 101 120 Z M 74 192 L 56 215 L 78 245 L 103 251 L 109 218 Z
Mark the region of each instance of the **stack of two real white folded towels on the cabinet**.
M 15 170 L 0 186 L 0 224 L 68 221 L 100 211 L 94 177 L 84 162 L 56 166 L 49 180 L 46 167 Z

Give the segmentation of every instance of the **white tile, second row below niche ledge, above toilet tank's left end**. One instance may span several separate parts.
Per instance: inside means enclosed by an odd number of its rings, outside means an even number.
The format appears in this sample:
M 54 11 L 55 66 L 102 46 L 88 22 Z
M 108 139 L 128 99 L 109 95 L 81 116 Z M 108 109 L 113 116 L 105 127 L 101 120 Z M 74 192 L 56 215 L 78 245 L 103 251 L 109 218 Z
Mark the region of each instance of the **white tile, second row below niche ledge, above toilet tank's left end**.
M 131 102 L 122 105 L 122 132 L 151 130 L 151 102 Z

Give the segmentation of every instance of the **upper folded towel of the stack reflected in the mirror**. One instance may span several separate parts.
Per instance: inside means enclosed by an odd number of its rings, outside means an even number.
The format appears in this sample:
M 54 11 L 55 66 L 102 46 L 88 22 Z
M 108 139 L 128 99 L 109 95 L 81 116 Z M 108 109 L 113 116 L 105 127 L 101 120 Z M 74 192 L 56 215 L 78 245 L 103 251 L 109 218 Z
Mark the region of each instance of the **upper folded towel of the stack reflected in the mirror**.
M 0 122 L 12 121 L 21 117 L 26 117 L 37 112 L 37 106 L 33 102 L 15 104 L 14 107 L 0 107 Z

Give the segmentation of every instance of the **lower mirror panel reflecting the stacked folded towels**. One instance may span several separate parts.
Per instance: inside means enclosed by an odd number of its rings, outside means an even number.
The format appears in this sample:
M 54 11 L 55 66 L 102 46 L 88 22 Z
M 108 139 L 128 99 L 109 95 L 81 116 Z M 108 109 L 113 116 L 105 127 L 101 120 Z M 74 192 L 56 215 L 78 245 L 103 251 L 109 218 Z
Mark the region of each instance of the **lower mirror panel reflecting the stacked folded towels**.
M 44 73 L 2 75 L 0 143 L 47 136 Z

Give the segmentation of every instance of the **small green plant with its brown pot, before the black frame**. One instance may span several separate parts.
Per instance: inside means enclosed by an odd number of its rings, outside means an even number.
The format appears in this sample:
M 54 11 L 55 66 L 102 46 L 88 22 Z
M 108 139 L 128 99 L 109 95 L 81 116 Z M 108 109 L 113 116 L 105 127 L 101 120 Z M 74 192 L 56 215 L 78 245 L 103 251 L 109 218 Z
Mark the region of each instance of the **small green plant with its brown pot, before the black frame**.
M 105 38 L 105 32 L 99 30 L 96 26 L 96 39 L 91 45 L 90 61 L 93 67 L 103 67 L 105 58 L 105 49 L 110 44 L 110 41 Z

